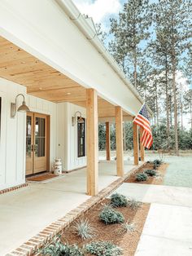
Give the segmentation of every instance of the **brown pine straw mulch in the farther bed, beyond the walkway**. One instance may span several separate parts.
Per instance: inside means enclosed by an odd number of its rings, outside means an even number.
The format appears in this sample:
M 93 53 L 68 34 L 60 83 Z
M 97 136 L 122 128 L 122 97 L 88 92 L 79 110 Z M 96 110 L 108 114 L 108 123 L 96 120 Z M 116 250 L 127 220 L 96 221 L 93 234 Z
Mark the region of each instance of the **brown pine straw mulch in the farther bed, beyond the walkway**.
M 151 177 L 149 176 L 146 181 L 140 181 L 138 182 L 135 179 L 136 174 L 142 173 L 144 170 L 153 169 L 153 164 L 146 163 L 145 166 L 142 166 L 142 168 L 139 168 L 136 172 L 131 174 L 128 179 L 126 179 L 125 183 L 142 183 L 142 184 L 153 184 L 153 185 L 162 185 L 164 184 L 164 175 L 166 174 L 166 170 L 168 168 L 167 163 L 163 163 L 161 166 L 157 168 L 157 176 Z

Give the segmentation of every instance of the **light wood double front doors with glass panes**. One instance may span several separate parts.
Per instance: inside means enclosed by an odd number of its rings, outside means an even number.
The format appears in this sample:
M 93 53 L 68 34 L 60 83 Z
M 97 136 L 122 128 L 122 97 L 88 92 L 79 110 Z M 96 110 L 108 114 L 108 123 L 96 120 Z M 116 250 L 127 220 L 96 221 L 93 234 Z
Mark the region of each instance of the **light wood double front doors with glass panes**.
M 26 126 L 26 175 L 48 170 L 49 118 L 28 113 Z

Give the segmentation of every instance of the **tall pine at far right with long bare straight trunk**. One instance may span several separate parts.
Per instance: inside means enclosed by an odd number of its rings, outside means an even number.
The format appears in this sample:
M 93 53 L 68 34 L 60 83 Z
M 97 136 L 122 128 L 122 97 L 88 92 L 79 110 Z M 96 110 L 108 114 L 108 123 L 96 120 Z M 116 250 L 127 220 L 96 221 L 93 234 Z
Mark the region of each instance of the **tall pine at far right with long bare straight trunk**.
M 177 131 L 177 83 L 176 73 L 182 54 L 189 48 L 190 0 L 159 0 L 155 5 L 157 34 L 161 33 L 168 46 L 168 61 L 171 64 L 172 93 L 174 102 L 175 151 L 178 155 Z

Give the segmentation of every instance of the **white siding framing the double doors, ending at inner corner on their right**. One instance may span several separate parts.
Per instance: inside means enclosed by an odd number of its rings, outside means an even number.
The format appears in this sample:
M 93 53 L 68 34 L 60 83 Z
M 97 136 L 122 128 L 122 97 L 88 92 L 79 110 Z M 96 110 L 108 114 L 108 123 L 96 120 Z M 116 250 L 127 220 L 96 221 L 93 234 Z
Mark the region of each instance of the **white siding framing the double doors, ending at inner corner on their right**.
M 26 95 L 25 86 L 0 78 L 0 190 L 25 183 L 26 114 L 17 112 L 15 118 L 10 116 L 11 102 L 15 102 L 15 96 L 20 93 L 25 95 L 31 111 L 50 115 L 50 166 L 56 157 L 56 104 Z M 22 100 L 22 97 L 17 99 L 18 105 Z

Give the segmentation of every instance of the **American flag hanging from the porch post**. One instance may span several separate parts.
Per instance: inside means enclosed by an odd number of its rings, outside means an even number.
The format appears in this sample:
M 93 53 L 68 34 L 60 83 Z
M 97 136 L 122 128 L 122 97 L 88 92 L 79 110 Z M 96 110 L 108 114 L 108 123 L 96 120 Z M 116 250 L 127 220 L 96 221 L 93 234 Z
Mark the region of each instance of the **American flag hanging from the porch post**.
M 146 104 L 142 105 L 142 108 L 139 113 L 137 113 L 137 116 L 134 118 L 133 123 L 143 128 L 142 145 L 145 148 L 151 148 L 151 145 L 153 143 L 153 136 L 149 121 L 149 115 L 146 109 Z

